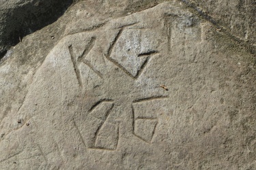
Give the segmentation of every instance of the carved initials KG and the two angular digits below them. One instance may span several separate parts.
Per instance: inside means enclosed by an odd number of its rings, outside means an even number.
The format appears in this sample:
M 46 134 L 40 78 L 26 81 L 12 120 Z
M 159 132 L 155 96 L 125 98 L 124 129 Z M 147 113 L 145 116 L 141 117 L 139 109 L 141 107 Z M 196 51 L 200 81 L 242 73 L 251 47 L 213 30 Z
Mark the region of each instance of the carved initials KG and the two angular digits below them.
M 109 49 L 104 54 L 104 59 L 110 61 L 113 67 L 118 67 L 120 71 L 126 73 L 126 75 L 136 81 L 140 78 L 141 73 L 145 70 L 147 64 L 150 62 L 150 58 L 158 54 L 157 45 L 150 39 L 151 33 L 148 30 L 141 29 L 119 29 L 115 35 L 113 41 L 111 41 Z M 129 39 L 127 39 L 129 37 Z M 68 47 L 72 63 L 74 66 L 74 72 L 79 82 L 79 86 L 84 89 L 83 75 L 79 70 L 79 65 L 84 63 L 94 71 L 99 78 L 105 80 L 104 73 L 92 63 L 87 61 L 87 54 L 90 50 L 94 50 L 98 37 L 91 37 L 89 43 L 85 46 L 81 56 L 75 57 L 73 46 Z M 146 143 L 151 143 L 154 137 L 156 127 L 158 124 L 158 118 L 156 116 L 156 110 L 151 109 L 151 104 L 155 99 L 166 98 L 163 95 L 150 94 L 143 97 L 135 97 L 130 103 L 130 110 L 132 113 L 132 134 Z M 111 98 L 111 97 L 110 97 Z M 122 98 L 122 97 L 121 97 Z M 120 101 L 122 100 L 120 98 Z M 119 123 L 109 120 L 113 108 L 115 107 L 116 99 L 100 99 L 96 102 L 88 111 L 87 115 L 87 139 L 81 134 L 79 127 L 76 126 L 82 141 L 87 148 L 101 149 L 101 150 L 116 150 L 119 143 Z M 152 110 L 154 112 L 152 112 Z M 121 122 L 122 123 L 122 122 Z

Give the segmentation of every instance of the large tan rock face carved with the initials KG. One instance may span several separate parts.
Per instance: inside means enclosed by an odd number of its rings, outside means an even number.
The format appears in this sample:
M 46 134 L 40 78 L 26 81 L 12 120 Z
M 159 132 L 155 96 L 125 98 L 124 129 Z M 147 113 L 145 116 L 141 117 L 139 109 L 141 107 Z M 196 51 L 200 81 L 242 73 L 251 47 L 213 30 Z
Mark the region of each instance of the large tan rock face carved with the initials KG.
M 256 169 L 248 46 L 184 3 L 112 3 L 5 55 L 0 169 Z

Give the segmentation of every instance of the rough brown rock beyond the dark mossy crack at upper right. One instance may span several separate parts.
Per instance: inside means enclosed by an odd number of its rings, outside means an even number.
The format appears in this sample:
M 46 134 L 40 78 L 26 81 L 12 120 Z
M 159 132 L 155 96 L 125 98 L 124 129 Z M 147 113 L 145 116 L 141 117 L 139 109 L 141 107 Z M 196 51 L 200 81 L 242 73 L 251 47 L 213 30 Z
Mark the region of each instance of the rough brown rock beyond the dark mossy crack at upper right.
M 208 14 L 216 24 L 222 25 L 238 39 L 256 46 L 256 2 L 254 0 L 182 1 L 195 10 L 202 10 Z

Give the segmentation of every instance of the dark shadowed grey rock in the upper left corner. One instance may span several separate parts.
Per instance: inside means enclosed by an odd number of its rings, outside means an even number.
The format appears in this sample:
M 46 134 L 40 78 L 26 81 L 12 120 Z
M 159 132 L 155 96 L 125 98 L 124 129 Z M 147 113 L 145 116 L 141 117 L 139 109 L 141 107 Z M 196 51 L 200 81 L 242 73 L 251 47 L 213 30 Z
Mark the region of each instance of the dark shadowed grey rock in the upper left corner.
M 1 0 L 0 58 L 29 33 L 57 20 L 72 0 Z

